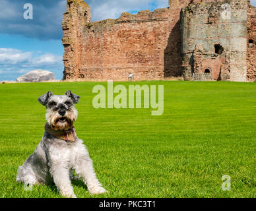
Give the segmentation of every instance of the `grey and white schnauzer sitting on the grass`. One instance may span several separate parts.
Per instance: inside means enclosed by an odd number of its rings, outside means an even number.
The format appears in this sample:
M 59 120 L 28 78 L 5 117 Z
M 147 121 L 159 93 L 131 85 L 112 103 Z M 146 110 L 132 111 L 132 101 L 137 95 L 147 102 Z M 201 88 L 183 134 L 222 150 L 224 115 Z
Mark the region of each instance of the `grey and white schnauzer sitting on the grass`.
M 79 102 L 79 98 L 71 91 L 61 96 L 48 92 L 38 98 L 40 104 L 46 106 L 46 125 L 49 128 L 34 153 L 18 167 L 16 181 L 27 185 L 54 182 L 63 196 L 76 197 L 71 186 L 71 176 L 75 170 L 91 194 L 106 192 L 96 177 L 88 150 L 73 128 L 78 115 L 74 104 Z M 73 139 L 69 140 L 67 135 Z

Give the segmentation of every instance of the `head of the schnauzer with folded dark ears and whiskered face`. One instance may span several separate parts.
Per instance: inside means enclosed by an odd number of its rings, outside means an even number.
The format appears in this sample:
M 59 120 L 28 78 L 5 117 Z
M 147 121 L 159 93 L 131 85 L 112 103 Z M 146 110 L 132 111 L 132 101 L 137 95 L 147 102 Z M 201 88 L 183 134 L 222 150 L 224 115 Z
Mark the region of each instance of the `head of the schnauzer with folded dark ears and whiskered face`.
M 68 130 L 77 120 L 77 109 L 75 104 L 79 103 L 79 96 L 67 91 L 64 95 L 53 95 L 47 92 L 38 102 L 46 106 L 46 120 L 51 128 L 57 130 Z

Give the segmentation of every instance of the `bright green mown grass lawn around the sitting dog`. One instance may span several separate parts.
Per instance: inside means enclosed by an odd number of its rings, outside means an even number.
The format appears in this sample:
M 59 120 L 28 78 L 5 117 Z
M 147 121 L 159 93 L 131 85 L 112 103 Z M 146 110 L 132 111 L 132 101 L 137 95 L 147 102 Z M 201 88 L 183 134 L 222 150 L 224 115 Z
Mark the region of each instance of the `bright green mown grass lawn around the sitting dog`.
M 55 186 L 24 191 L 16 171 L 44 134 L 42 94 L 78 94 L 77 135 L 98 179 L 110 191 L 78 197 L 255 197 L 256 83 L 134 82 L 164 85 L 164 114 L 152 109 L 94 109 L 92 88 L 104 82 L 0 84 L 0 197 L 61 197 Z M 125 84 L 128 82 L 118 82 Z M 230 175 L 231 191 L 222 191 Z

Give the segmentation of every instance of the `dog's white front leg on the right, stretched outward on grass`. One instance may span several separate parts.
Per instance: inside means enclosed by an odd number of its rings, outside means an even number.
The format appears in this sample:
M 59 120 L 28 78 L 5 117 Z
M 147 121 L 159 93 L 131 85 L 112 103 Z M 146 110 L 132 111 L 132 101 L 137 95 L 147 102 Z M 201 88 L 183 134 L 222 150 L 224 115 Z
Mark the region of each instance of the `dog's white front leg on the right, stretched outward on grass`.
M 80 158 L 79 162 L 75 165 L 75 172 L 82 177 L 91 194 L 106 193 L 106 190 L 96 177 L 90 157 L 86 156 L 86 158 Z

